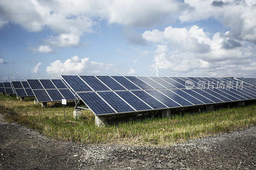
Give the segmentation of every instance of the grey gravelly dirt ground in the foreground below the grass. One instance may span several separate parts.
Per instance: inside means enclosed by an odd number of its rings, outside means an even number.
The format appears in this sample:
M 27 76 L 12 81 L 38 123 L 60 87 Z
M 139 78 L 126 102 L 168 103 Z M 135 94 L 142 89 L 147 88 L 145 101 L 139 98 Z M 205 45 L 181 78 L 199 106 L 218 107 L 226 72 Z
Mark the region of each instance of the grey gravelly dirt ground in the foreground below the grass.
M 5 122 L 0 169 L 256 169 L 256 126 L 168 148 L 51 140 Z

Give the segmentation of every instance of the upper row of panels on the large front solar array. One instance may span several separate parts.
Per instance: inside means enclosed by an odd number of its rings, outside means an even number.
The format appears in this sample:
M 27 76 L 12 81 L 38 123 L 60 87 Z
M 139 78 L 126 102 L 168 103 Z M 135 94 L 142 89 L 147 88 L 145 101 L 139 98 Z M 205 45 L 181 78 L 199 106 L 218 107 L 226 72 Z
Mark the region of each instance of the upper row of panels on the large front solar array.
M 209 85 L 210 87 L 241 86 L 234 78 L 201 77 L 143 77 L 143 76 L 61 76 L 74 92 L 183 89 L 186 81 L 192 88 Z M 200 83 L 201 82 L 201 83 Z M 233 82 L 233 84 L 231 83 Z M 243 86 L 251 86 L 246 83 Z M 207 88 L 207 87 L 206 87 Z

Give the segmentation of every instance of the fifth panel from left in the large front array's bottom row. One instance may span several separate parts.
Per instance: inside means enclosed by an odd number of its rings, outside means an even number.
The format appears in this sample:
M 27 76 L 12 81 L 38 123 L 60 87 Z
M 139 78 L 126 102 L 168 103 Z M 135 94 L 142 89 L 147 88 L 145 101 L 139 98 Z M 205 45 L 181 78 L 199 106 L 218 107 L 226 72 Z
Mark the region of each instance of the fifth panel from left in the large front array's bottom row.
M 166 97 L 164 94 L 157 90 L 146 90 L 151 96 L 154 96 L 157 100 L 161 101 L 168 107 L 181 107 L 178 103 L 174 102 L 172 99 Z

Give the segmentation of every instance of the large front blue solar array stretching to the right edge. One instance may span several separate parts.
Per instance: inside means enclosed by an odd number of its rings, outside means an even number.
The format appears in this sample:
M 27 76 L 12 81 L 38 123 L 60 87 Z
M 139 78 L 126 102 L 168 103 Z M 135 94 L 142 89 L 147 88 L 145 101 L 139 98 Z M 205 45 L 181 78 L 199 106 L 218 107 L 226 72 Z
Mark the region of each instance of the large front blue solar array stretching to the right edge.
M 256 99 L 256 87 L 234 78 L 61 77 L 95 115 Z

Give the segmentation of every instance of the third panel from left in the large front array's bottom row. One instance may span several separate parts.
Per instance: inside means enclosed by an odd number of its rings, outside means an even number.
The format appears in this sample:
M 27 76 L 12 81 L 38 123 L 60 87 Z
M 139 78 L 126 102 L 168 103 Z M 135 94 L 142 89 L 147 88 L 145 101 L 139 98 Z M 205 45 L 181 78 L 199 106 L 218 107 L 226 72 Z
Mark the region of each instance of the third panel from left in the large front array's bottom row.
M 147 104 L 145 104 L 143 101 L 141 101 L 139 98 L 134 96 L 129 91 L 116 91 L 116 94 L 118 94 L 121 98 L 123 98 L 127 103 L 129 103 L 137 111 L 153 110 L 151 107 L 149 107 Z

